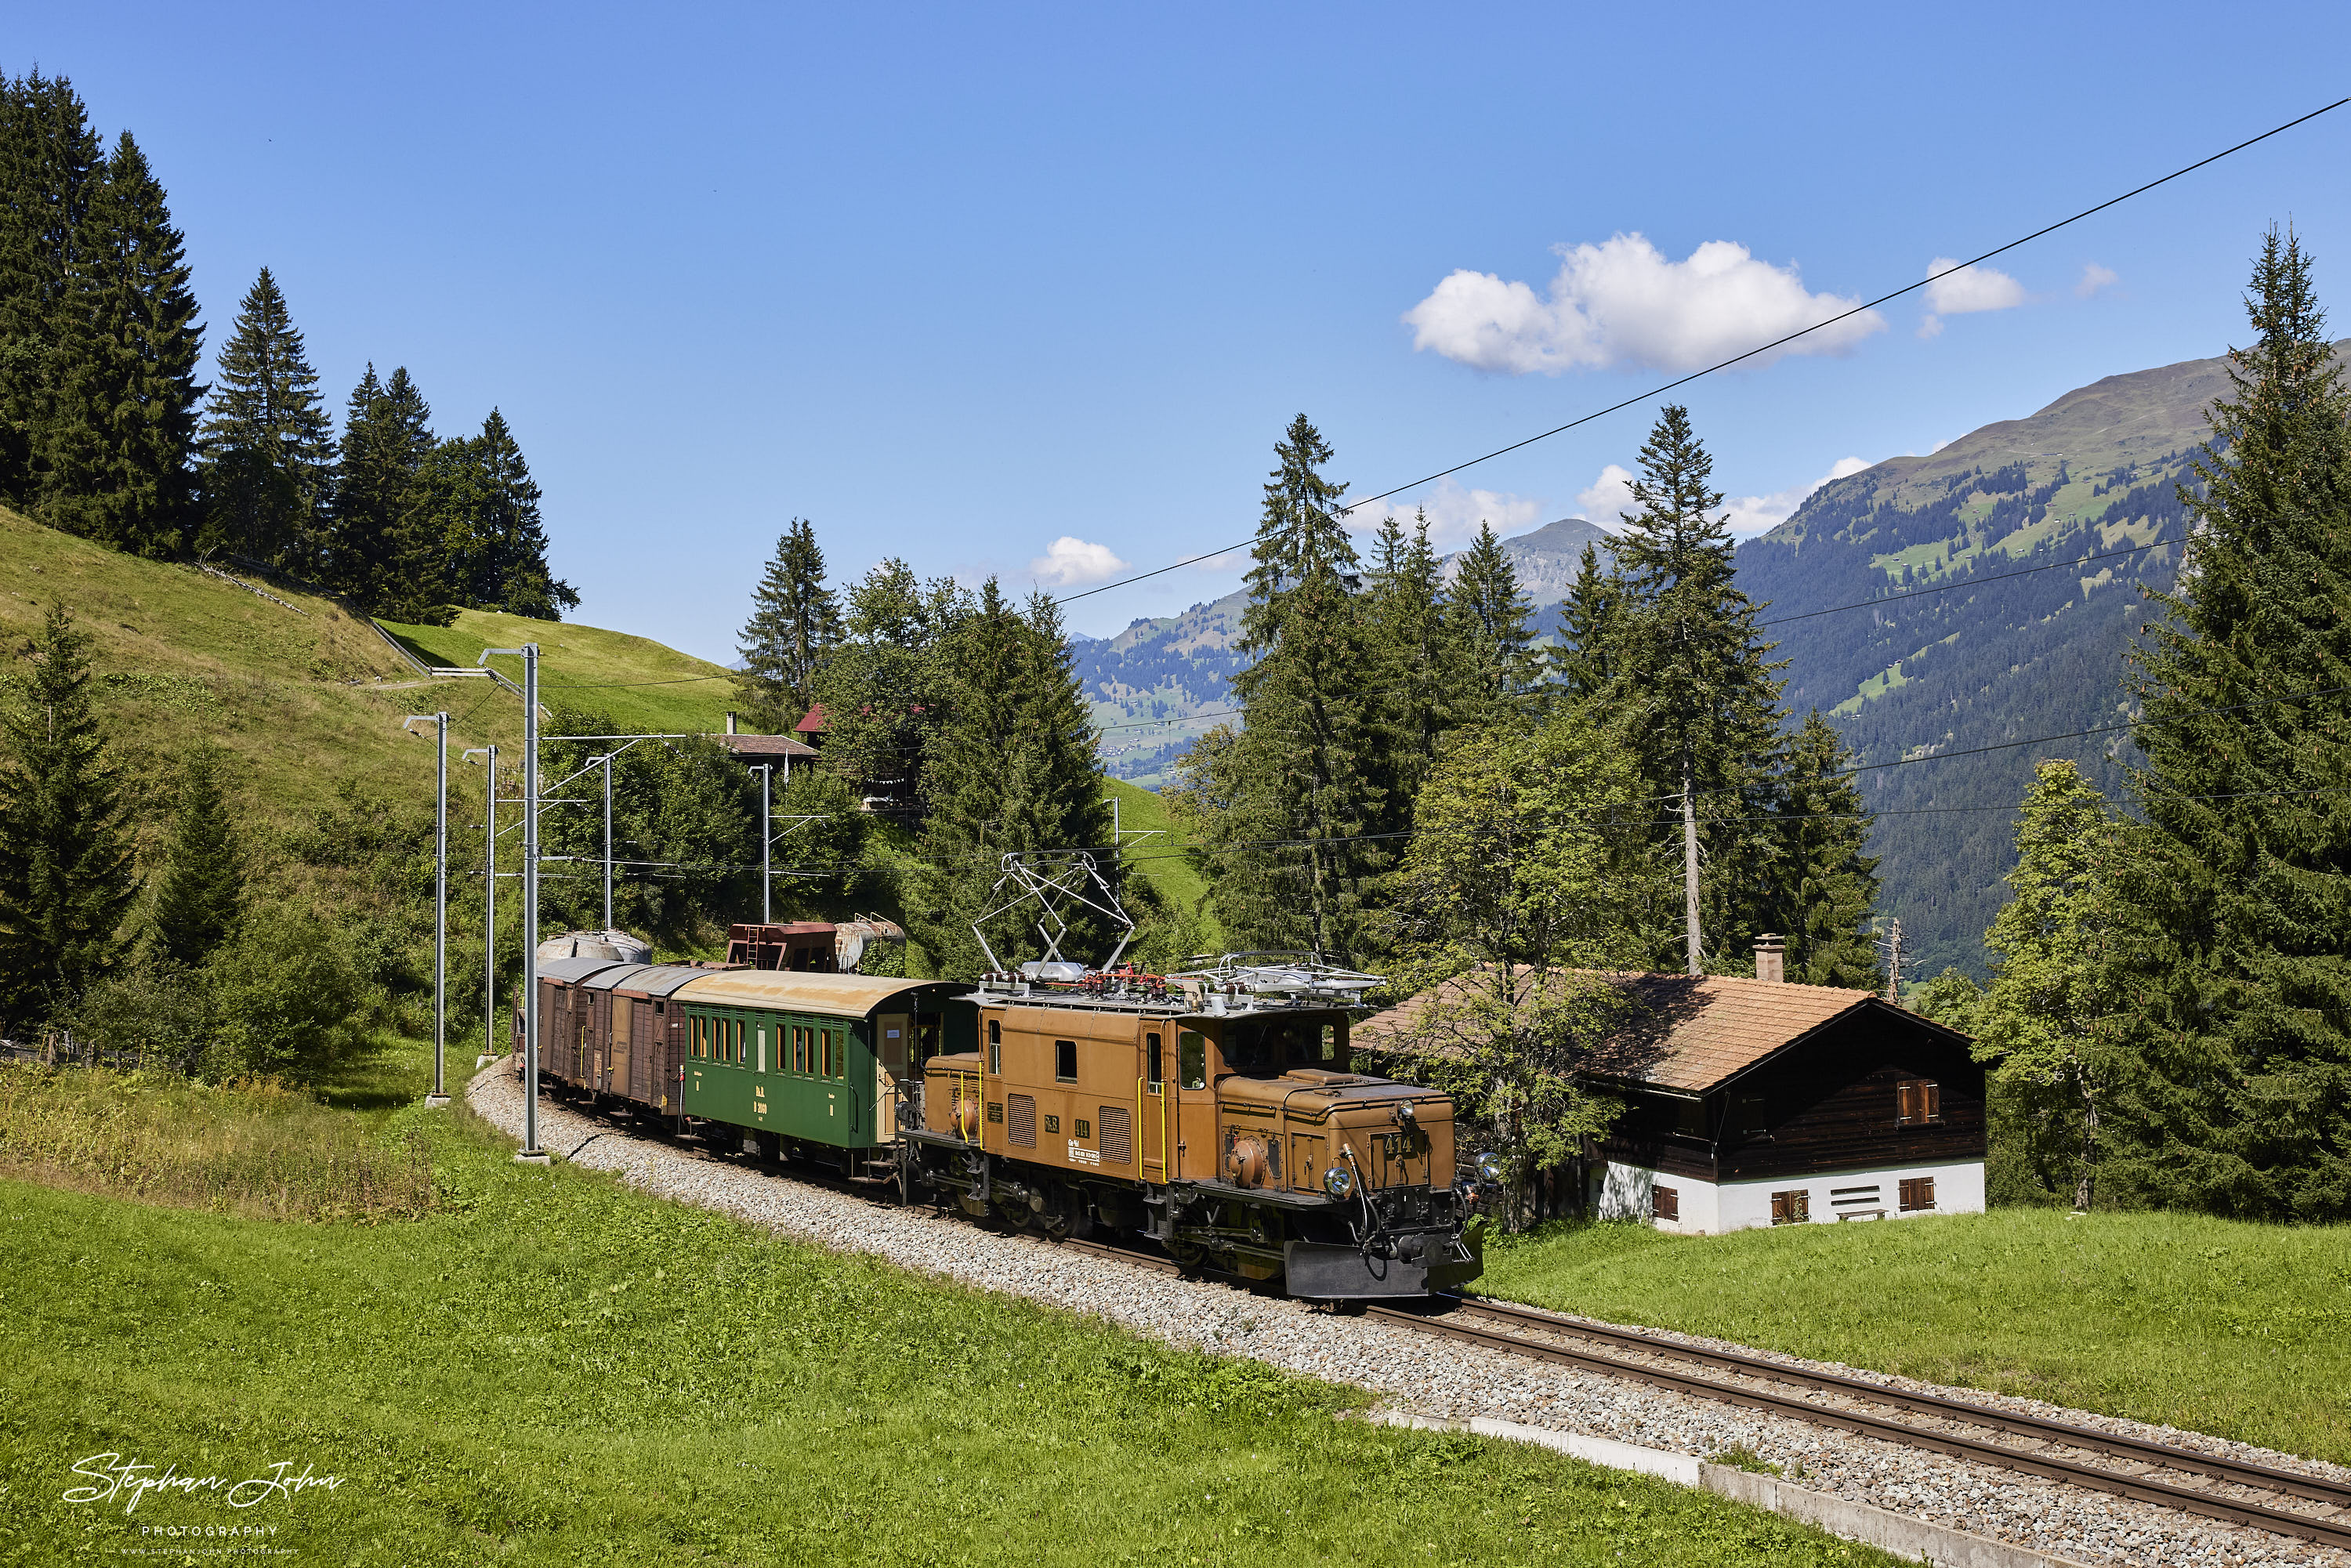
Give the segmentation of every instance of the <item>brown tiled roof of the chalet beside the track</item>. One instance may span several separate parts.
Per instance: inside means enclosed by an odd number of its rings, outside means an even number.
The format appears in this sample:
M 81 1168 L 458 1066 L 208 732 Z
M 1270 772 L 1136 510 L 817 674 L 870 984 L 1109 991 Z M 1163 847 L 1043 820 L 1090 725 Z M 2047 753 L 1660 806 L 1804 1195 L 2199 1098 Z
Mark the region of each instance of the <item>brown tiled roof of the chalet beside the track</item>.
M 1836 985 L 1603 971 L 1575 971 L 1570 978 L 1606 983 L 1625 999 L 1627 1016 L 1617 1032 L 1594 1048 L 1592 1072 L 1681 1093 L 1704 1093 L 1855 1009 L 1878 1006 L 1900 1013 L 1874 992 Z M 1465 994 L 1462 980 L 1420 992 L 1359 1023 L 1354 1044 L 1371 1051 L 1441 1051 L 1446 1048 L 1441 1004 L 1460 1001 Z M 1432 1006 L 1439 1009 L 1434 1018 Z M 1918 1023 L 1925 1025 L 1923 1018 Z

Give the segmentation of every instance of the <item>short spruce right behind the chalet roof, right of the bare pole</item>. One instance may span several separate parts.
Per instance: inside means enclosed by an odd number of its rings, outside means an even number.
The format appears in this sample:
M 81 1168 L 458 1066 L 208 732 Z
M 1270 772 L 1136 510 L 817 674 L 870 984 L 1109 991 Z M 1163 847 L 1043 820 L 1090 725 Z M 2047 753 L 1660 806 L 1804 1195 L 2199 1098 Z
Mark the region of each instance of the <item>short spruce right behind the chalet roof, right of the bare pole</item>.
M 1878 903 L 1878 858 L 1862 853 L 1869 809 L 1850 766 L 1829 722 L 1808 712 L 1780 776 L 1773 919 L 1787 931 L 1789 980 L 1876 990 L 1883 976 L 1864 924 Z

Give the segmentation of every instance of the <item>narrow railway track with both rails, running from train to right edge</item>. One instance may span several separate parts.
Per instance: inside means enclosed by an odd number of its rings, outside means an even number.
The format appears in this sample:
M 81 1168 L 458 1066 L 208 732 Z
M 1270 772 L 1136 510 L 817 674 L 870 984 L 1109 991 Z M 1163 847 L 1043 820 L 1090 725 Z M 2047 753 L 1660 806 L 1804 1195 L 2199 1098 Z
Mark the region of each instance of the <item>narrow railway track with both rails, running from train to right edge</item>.
M 597 1119 L 607 1121 L 607 1126 L 611 1126 L 614 1121 L 609 1117 L 597 1117 Z M 649 1128 L 628 1128 L 628 1131 L 649 1131 Z M 670 1138 L 663 1133 L 654 1135 L 670 1143 Z M 715 1159 L 722 1159 L 726 1164 L 748 1161 L 748 1157 L 738 1150 L 724 1150 L 724 1145 L 705 1145 L 705 1147 L 712 1152 Z M 766 1168 L 769 1173 L 776 1175 L 790 1175 L 792 1180 L 802 1180 L 813 1187 L 856 1192 L 860 1197 L 872 1199 L 877 1206 L 893 1206 L 882 1194 L 863 1190 L 860 1185 L 846 1182 L 839 1175 L 825 1171 L 792 1168 L 792 1166 L 759 1166 L 759 1168 Z M 1058 1246 L 1093 1258 L 1110 1258 L 1133 1267 L 1152 1269 L 1157 1274 L 1187 1272 L 1183 1265 L 1178 1265 L 1166 1255 L 1143 1253 L 1126 1246 L 1110 1246 L 1103 1241 L 1081 1241 L 1081 1239 L 1063 1239 L 1063 1241 L 1037 1239 L 1037 1241 L 1039 1246 Z M 1197 1274 L 1199 1269 L 1192 1272 Z M 1232 1284 L 1237 1288 L 1248 1288 L 1248 1281 L 1232 1281 Z M 1575 1366 L 1580 1371 L 1601 1373 L 1608 1378 L 1625 1378 L 1632 1382 L 1646 1382 L 1650 1387 L 1672 1389 L 1676 1394 L 1716 1399 L 1723 1403 L 1744 1406 L 1749 1410 L 1766 1410 L 1770 1415 L 1813 1422 L 1817 1427 L 1836 1427 L 1841 1432 L 1871 1436 L 1886 1443 L 1900 1443 L 1904 1448 L 1923 1448 L 1930 1453 L 1944 1453 L 1951 1458 L 1991 1465 L 1996 1469 L 2010 1469 L 2029 1476 L 2041 1476 L 2045 1481 L 2059 1481 L 2067 1486 L 2081 1486 L 2088 1490 L 2102 1490 L 2118 1497 L 2130 1497 L 2135 1502 L 2154 1502 L 2158 1507 L 2177 1509 L 2182 1514 L 2196 1514 L 2201 1519 L 2219 1519 L 2224 1523 L 2271 1530 L 2276 1535 L 2309 1540 L 2323 1547 L 2351 1549 L 2351 1486 L 2342 1481 L 2327 1481 L 2323 1476 L 2306 1476 L 2299 1472 L 2278 1469 L 2273 1465 L 2231 1460 L 2226 1455 L 2201 1453 L 2196 1448 L 2123 1436 L 2116 1432 L 2099 1432 L 2097 1427 L 2081 1427 L 2074 1422 L 2022 1415 L 2015 1410 L 1996 1410 L 1961 1399 L 1944 1399 L 1940 1394 L 1893 1389 L 1869 1382 L 1864 1378 L 1848 1378 L 1841 1373 L 1784 1366 L 1766 1356 L 1749 1356 L 1730 1349 L 1709 1349 L 1700 1345 L 1681 1345 L 1662 1335 L 1648 1335 L 1632 1328 L 1608 1328 L 1601 1324 L 1585 1324 L 1552 1312 L 1538 1312 L 1533 1307 L 1514 1307 L 1507 1302 L 1491 1302 L 1474 1295 L 1444 1298 L 1436 1312 L 1427 1309 L 1413 1312 L 1406 1307 L 1368 1305 L 1364 1307 L 1364 1316 L 1411 1333 L 1462 1340 L 1469 1345 L 1481 1345 L 1486 1349 L 1500 1349 L 1514 1356 L 1528 1356 L 1533 1361 Z M 1460 1321 L 1460 1319 L 1476 1319 L 1476 1321 Z M 1542 1338 L 1531 1338 L 1531 1335 L 1542 1335 Z M 1629 1356 L 1641 1356 L 1641 1359 L 1629 1359 Z M 1719 1375 L 1707 1375 L 1704 1371 L 1676 1371 L 1672 1366 L 1657 1366 L 1657 1361 L 1681 1361 L 1683 1366 L 1707 1368 Z M 1733 1382 L 1730 1378 L 1737 1378 L 1740 1382 Z M 1756 1387 L 1756 1385 L 1782 1385 L 1782 1389 L 1791 1392 Z M 2015 1439 L 2027 1439 L 2031 1443 L 2045 1443 L 2048 1448 L 2043 1450 L 2017 1448 L 1982 1436 L 1968 1436 L 1961 1432 L 1935 1429 L 1925 1425 L 1893 1420 L 1886 1415 L 1874 1415 L 1869 1410 L 1824 1406 L 1815 1403 L 1806 1394 L 1815 1396 L 1827 1394 L 1827 1396 L 1864 1401 L 1881 1408 L 1904 1410 L 1911 1415 L 1923 1415 L 1949 1425 L 1977 1427 L 1980 1432 L 1998 1432 Z M 2142 1465 L 2146 1469 L 2142 1472 L 2109 1469 L 2104 1465 L 2090 1465 L 2076 1458 L 2067 1458 L 2062 1453 L 2052 1453 L 2059 1448 L 2069 1448 L 2074 1453 L 2097 1453 L 2109 1460 L 2121 1460 L 2125 1465 Z M 2177 1481 L 2163 1479 L 2154 1472 L 2170 1472 L 2172 1476 L 2184 1476 L 2184 1479 Z M 2198 1486 L 2198 1481 L 2203 1486 Z M 2262 1490 L 2278 1500 L 2295 1497 L 2309 1505 L 2318 1505 L 2320 1512 L 2299 1512 L 2288 1507 L 2271 1507 L 2266 1502 L 2257 1502 L 2250 1497 L 2231 1497 L 2217 1490 L 2208 1490 L 2212 1486 Z

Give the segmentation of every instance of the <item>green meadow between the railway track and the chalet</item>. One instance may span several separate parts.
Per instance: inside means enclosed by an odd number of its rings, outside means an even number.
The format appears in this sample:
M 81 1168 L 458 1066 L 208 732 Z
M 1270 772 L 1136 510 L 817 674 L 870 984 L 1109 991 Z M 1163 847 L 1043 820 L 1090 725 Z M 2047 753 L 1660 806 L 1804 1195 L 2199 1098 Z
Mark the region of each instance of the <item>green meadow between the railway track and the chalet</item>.
M 2351 1465 L 2351 1229 L 1996 1208 L 1488 1241 L 1479 1288 Z

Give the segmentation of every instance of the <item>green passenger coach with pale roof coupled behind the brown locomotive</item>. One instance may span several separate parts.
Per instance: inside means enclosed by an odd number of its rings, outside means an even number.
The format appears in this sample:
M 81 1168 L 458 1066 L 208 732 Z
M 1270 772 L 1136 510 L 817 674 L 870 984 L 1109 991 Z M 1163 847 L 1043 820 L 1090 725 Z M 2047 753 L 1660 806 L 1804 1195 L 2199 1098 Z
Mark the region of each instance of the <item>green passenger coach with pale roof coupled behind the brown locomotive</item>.
M 863 1161 L 898 1143 L 898 1105 L 943 1051 L 973 1051 L 966 987 L 889 976 L 719 971 L 677 987 L 686 1051 L 677 1107 L 748 1128 L 762 1154 Z

